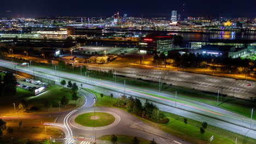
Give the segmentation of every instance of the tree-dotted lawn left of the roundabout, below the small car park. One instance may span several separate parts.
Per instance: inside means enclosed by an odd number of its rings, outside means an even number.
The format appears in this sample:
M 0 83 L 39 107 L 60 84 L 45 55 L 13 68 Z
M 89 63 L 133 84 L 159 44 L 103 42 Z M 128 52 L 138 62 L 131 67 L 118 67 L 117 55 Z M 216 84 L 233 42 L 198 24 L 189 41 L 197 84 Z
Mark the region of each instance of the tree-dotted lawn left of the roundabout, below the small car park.
M 69 104 L 65 106 L 61 106 L 61 111 L 67 111 L 72 110 L 74 107 L 83 105 L 85 99 L 84 97 L 81 97 L 79 100 L 74 101 L 72 100 L 72 91 L 71 89 L 61 87 L 58 85 L 50 85 L 47 88 L 47 91 L 39 94 L 37 96 L 34 96 L 34 92 L 27 91 L 26 89 L 22 89 L 17 87 L 16 94 L 8 94 L 5 93 L 4 97 L 0 97 L 0 113 L 1 115 L 13 115 L 14 107 L 13 103 L 16 104 L 16 112 L 18 112 L 18 115 L 26 115 L 29 114 L 39 114 L 39 113 L 45 113 L 45 112 L 59 112 L 59 101 L 61 98 L 65 95 L 69 99 Z M 25 110 L 18 110 L 18 105 L 20 100 L 25 99 L 28 104 L 28 109 L 32 106 L 36 106 L 39 108 L 39 110 L 28 110 L 25 112 Z M 48 110 L 44 107 L 44 102 L 46 100 L 51 100 L 53 103 L 53 107 Z

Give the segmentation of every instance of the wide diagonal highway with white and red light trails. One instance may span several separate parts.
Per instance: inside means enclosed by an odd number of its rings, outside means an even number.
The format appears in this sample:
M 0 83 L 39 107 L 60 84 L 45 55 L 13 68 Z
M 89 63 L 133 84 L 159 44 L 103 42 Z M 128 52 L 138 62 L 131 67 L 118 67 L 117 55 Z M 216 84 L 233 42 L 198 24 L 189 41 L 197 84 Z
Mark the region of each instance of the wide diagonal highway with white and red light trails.
M 5 64 L 5 67 L 10 67 L 10 68 L 13 67 L 13 65 L 11 65 L 10 62 L 1 61 L 0 63 Z M 38 67 L 32 67 L 32 69 L 27 69 L 27 68 L 18 68 L 18 69 L 34 71 L 34 73 L 52 77 L 53 79 L 56 79 L 57 82 L 59 79 L 73 80 L 78 82 L 79 85 L 80 83 L 83 83 L 83 87 L 92 89 L 99 93 L 104 93 L 106 95 L 113 93 L 114 97 L 116 98 L 118 97 L 119 94 L 132 95 L 140 98 L 147 98 L 150 101 L 158 102 L 154 104 L 158 106 L 162 111 L 171 112 L 171 113 L 188 117 L 200 122 L 206 121 L 208 124 L 211 124 L 215 127 L 223 128 L 223 129 L 233 131 L 235 133 L 246 135 L 256 139 L 256 131 L 255 131 L 256 124 L 254 120 L 252 121 L 252 125 L 251 125 L 251 119 L 227 110 L 220 109 L 218 107 L 202 104 L 193 100 L 181 99 L 181 98 L 178 98 L 177 103 L 175 103 L 175 99 L 165 99 L 165 97 L 174 98 L 175 97 L 174 95 L 168 95 L 160 92 L 149 91 L 146 89 L 141 89 L 139 87 L 132 87 L 132 86 L 124 87 L 124 85 L 120 85 L 118 83 L 91 79 L 88 77 L 69 74 L 69 73 L 63 73 L 60 71 L 56 73 L 54 70 L 50 70 L 50 69 L 44 69 L 44 68 L 38 68 Z M 56 76 L 55 76 L 55 73 L 56 73 Z M 155 97 L 150 94 L 161 95 L 162 98 Z M 142 103 L 143 102 L 144 101 L 142 100 Z M 254 130 L 248 129 L 250 127 Z

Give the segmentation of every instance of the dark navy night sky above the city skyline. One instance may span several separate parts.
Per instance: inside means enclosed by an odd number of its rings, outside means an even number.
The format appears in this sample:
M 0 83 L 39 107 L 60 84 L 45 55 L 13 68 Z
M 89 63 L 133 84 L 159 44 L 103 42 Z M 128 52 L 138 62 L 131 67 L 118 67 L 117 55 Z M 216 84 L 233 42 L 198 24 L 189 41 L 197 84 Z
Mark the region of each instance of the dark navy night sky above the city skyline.
M 44 16 L 112 16 L 117 11 L 121 15 L 143 17 L 170 17 L 171 10 L 182 10 L 185 16 L 256 16 L 256 1 L 208 1 L 208 0 L 1 0 L 0 17 L 44 17 Z

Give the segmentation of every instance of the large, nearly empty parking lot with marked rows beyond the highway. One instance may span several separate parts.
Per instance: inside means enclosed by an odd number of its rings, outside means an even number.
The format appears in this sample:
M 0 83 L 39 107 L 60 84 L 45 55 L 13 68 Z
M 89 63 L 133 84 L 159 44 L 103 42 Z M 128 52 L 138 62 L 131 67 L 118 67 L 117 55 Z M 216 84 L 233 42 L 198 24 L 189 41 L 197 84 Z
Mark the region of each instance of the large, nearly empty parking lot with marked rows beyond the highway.
M 88 65 L 88 69 L 108 71 L 115 70 L 117 75 L 124 75 L 132 78 L 141 78 L 144 80 L 152 80 L 172 84 L 176 86 L 184 86 L 189 88 L 200 89 L 202 91 L 210 91 L 217 93 L 218 90 L 230 97 L 242 99 L 251 99 L 256 97 L 255 83 L 251 81 L 235 80 L 226 77 L 202 75 L 187 73 L 184 71 L 161 70 L 161 69 L 139 69 L 127 67 L 102 67 L 101 65 Z M 251 86 L 247 86 L 250 83 Z

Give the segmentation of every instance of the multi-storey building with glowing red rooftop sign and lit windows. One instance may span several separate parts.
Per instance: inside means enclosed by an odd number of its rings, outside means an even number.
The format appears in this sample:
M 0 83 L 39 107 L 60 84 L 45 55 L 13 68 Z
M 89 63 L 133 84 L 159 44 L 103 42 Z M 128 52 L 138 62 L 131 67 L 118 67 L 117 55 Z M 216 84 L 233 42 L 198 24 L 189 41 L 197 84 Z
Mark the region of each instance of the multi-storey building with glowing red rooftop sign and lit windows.
M 172 36 L 154 36 L 139 40 L 139 52 L 141 53 L 166 53 L 173 47 Z

